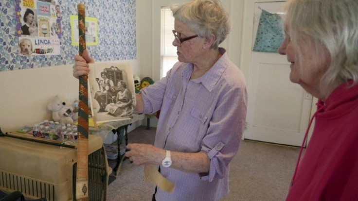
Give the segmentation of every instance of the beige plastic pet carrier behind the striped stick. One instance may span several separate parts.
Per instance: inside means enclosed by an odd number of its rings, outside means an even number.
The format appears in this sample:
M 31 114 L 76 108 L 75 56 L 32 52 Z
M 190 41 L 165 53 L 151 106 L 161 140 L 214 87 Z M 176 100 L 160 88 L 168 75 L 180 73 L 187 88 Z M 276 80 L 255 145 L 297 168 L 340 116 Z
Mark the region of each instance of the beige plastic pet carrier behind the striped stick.
M 76 150 L 0 137 L 0 190 L 27 199 L 75 200 Z M 108 175 L 102 138 L 89 136 L 89 200 L 105 201 Z

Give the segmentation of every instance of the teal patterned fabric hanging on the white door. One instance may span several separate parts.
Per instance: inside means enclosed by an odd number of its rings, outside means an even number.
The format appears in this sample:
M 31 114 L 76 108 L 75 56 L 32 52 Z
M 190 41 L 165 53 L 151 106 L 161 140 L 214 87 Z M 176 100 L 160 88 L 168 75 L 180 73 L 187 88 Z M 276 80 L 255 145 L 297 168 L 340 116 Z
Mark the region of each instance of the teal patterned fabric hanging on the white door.
M 284 38 L 280 15 L 262 10 L 253 51 L 278 52 Z

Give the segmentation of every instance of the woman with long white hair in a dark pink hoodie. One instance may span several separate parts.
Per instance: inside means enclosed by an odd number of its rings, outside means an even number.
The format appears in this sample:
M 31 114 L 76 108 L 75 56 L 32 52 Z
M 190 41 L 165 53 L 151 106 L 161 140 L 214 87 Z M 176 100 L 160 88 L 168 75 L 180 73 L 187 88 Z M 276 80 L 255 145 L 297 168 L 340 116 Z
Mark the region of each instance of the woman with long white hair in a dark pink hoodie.
M 357 201 L 358 0 L 287 0 L 284 8 L 279 53 L 290 81 L 318 98 L 286 201 Z

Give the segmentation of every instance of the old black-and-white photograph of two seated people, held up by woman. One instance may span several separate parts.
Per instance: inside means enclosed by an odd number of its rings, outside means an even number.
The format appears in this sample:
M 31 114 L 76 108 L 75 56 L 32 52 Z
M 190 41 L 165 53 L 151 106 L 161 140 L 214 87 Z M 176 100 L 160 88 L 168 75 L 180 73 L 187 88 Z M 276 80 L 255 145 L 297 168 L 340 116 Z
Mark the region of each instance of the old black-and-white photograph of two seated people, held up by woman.
M 96 122 L 129 118 L 135 105 L 132 68 L 126 63 L 90 64 L 91 113 Z

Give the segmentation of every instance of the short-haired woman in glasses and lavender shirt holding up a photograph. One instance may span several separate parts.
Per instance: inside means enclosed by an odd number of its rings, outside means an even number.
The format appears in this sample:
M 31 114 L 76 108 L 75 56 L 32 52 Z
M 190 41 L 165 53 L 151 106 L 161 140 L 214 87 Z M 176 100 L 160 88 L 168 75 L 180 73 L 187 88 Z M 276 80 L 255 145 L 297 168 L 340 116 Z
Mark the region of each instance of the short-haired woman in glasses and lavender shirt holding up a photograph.
M 153 189 L 154 201 L 216 201 L 229 193 L 229 164 L 245 127 L 245 78 L 219 48 L 231 27 L 219 0 L 189 0 L 171 10 L 179 62 L 136 94 L 134 109 L 161 110 L 155 144 L 128 144 L 125 156 L 135 165 L 158 165 L 176 184 L 173 193 Z M 87 50 L 74 60 L 76 78 L 94 62 Z

